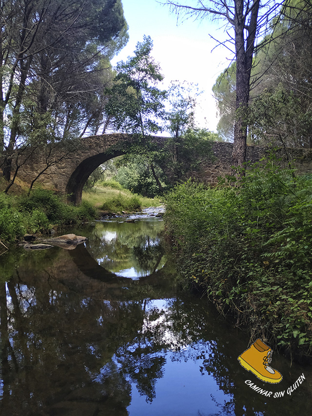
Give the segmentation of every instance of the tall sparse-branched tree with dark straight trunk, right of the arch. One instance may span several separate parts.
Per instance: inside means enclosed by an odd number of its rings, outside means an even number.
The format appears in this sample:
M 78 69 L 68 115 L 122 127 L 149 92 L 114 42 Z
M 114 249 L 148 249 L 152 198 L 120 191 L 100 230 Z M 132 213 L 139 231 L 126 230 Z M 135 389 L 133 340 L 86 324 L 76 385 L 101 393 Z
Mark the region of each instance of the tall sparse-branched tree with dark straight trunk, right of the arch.
M 287 0 L 286 0 L 287 1 Z M 182 5 L 167 0 L 176 13 L 196 18 L 212 16 L 221 18 L 230 25 L 234 34 L 229 35 L 234 44 L 236 60 L 236 103 L 234 126 L 234 166 L 243 166 L 246 160 L 247 118 L 249 103 L 250 78 L 256 39 L 279 9 L 283 1 L 268 0 L 207 0 L 196 1 L 197 7 Z

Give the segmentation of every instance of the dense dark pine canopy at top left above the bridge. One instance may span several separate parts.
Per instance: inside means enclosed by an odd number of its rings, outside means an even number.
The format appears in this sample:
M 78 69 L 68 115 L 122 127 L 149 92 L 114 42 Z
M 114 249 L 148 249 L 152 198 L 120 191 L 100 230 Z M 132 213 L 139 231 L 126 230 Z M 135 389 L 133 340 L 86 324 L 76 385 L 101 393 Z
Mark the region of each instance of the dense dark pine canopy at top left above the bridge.
M 127 42 L 120 0 L 7 0 L 0 11 L 3 175 L 21 145 L 78 137 Z M 36 134 L 37 132 L 37 134 Z

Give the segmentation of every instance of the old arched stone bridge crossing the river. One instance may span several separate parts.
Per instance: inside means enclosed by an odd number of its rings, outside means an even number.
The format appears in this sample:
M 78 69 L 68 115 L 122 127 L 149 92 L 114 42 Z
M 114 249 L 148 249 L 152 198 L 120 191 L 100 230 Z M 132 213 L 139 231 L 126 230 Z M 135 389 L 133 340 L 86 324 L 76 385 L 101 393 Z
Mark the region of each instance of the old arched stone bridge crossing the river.
M 153 137 L 152 141 L 161 148 L 167 138 Z M 81 201 L 82 188 L 91 173 L 105 161 L 126 153 L 133 138 L 122 133 L 91 136 L 79 140 L 75 147 L 64 151 L 59 144 L 35 149 L 27 155 L 26 162 L 20 166 L 18 178 L 31 182 L 39 175 L 36 184 L 68 195 L 68 200 L 78 204 Z M 215 185 L 218 177 L 230 174 L 233 143 L 213 143 L 214 158 L 208 158 L 189 177 L 195 177 L 205 183 Z M 248 146 L 246 160 L 254 163 L 265 157 L 269 148 Z M 277 158 L 286 166 L 292 162 L 300 173 L 312 173 L 311 149 L 279 149 Z M 26 157 L 23 155 L 22 157 Z

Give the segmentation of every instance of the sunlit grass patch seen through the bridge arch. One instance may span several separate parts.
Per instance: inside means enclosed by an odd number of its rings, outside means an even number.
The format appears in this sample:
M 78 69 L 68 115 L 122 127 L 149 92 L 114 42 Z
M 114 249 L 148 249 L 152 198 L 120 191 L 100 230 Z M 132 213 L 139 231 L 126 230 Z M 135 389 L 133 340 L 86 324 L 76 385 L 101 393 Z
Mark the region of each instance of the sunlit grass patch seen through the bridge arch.
M 104 212 L 137 212 L 143 208 L 161 205 L 159 198 L 145 198 L 127 189 L 98 185 L 95 190 L 83 191 L 82 200 Z

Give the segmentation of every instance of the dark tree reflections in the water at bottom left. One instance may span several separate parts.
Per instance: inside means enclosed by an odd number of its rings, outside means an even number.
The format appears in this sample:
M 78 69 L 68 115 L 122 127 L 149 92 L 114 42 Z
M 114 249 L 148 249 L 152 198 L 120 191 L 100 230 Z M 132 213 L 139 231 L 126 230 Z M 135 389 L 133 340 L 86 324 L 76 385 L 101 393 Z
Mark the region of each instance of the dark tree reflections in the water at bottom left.
M 103 363 L 140 328 L 141 305 L 94 300 L 60 286 L 46 280 L 35 289 L 10 280 L 6 291 L 1 285 L 1 415 L 35 415 L 42 406 L 80 415 L 83 401 L 94 409 L 86 415 L 110 408 L 126 414 L 129 383 L 114 365 L 104 376 Z

